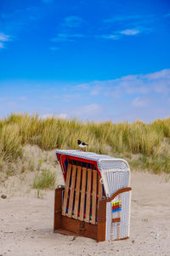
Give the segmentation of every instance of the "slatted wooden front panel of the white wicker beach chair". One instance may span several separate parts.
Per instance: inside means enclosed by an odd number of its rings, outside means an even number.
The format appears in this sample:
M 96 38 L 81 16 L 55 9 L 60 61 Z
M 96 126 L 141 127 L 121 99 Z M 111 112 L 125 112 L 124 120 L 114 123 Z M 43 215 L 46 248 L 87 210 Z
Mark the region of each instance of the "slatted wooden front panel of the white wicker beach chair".
M 102 195 L 103 185 L 96 169 L 68 165 L 62 215 L 96 224 L 97 204 Z

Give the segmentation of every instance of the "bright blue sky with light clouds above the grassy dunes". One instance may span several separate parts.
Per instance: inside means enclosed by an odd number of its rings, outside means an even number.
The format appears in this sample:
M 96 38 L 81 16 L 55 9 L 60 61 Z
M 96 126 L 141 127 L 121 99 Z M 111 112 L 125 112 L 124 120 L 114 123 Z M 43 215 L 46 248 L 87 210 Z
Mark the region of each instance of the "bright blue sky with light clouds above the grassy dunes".
M 170 116 L 169 0 L 0 0 L 0 118 Z

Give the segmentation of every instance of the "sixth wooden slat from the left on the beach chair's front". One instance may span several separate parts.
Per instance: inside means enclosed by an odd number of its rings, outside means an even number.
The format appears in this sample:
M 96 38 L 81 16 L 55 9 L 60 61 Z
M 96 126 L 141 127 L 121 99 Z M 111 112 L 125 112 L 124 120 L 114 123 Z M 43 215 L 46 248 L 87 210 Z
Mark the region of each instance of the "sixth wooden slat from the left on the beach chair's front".
M 95 224 L 95 218 L 96 218 L 96 195 L 97 195 L 97 171 L 93 170 L 93 195 L 92 195 L 92 220 L 91 220 L 92 224 Z

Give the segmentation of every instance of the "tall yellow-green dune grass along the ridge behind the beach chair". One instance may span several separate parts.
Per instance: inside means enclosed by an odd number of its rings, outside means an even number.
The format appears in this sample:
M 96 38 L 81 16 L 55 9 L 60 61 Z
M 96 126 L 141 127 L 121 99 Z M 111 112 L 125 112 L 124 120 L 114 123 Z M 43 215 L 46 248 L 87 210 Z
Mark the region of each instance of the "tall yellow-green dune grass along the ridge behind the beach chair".
M 77 149 L 77 139 L 89 144 L 88 151 L 127 159 L 132 169 L 170 172 L 170 118 L 113 124 L 14 113 L 0 121 L 0 170 L 3 161 L 21 158 L 26 144 Z

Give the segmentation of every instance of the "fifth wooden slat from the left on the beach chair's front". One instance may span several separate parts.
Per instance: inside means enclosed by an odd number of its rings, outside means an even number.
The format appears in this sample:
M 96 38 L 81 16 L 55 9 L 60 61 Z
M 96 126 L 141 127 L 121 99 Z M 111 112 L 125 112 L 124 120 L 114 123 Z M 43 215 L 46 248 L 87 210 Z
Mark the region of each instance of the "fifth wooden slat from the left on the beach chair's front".
M 85 218 L 85 221 L 86 221 L 86 222 L 89 222 L 89 219 L 90 219 L 91 183 L 92 183 L 92 169 L 88 169 L 88 185 L 87 185 L 87 200 L 86 200 L 86 218 Z

